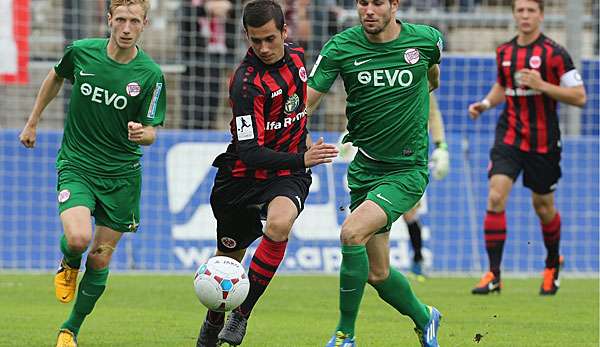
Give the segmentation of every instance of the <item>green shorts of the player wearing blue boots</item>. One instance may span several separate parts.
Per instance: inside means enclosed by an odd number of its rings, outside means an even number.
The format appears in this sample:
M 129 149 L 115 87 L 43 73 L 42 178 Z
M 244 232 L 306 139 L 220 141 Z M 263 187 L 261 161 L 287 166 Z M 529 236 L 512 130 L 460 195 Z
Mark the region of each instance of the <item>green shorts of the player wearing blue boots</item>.
M 388 232 L 392 224 L 413 208 L 429 183 L 426 166 L 398 168 L 367 158 L 360 151 L 348 167 L 350 210 L 365 200 L 379 205 L 387 215 L 387 224 L 377 233 Z

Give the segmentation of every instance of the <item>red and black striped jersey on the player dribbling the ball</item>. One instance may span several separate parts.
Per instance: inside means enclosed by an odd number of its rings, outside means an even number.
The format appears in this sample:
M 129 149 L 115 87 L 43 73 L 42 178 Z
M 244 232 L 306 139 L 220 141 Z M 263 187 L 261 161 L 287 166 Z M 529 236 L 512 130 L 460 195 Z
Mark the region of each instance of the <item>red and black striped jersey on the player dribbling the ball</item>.
M 229 83 L 231 143 L 213 166 L 255 179 L 305 172 L 307 77 L 300 47 L 286 43 L 272 65 L 248 49 Z

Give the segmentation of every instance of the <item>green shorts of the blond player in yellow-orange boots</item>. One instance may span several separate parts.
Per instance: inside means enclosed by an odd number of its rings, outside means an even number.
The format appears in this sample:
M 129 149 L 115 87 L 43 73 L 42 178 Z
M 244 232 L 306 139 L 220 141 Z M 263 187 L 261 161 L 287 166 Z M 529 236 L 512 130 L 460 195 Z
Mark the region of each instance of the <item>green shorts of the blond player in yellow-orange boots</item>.
M 120 232 L 135 232 L 140 223 L 142 176 L 97 177 L 72 169 L 58 173 L 60 213 L 75 206 L 90 209 L 96 225 Z

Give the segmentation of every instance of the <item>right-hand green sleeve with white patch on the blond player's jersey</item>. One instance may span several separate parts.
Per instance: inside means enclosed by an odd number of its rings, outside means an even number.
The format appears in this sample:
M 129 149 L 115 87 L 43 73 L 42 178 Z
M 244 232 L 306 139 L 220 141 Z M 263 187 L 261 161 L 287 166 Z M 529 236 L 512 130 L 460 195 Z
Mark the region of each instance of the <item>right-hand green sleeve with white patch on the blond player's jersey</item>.
M 167 111 L 165 76 L 161 72 L 157 72 L 147 85 L 149 90 L 142 104 L 139 122 L 144 125 L 163 125 Z

